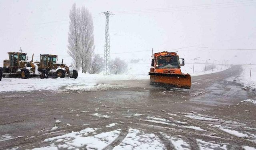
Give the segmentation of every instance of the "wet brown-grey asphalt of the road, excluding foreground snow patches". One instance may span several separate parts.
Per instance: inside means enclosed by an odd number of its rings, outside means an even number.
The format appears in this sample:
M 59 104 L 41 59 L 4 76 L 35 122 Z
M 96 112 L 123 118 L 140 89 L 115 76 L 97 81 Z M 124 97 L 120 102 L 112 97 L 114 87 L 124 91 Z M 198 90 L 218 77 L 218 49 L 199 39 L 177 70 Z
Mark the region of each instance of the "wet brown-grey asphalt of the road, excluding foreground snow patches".
M 33 146 L 44 146 L 41 142 L 45 138 L 64 133 L 79 131 L 86 127 L 102 128 L 102 132 L 121 128 L 140 128 L 145 132 L 165 132 L 172 136 L 182 135 L 189 143 L 191 149 L 197 149 L 194 144 L 196 138 L 215 142 L 230 143 L 230 149 L 239 149 L 248 145 L 256 147 L 254 142 L 237 138 L 231 134 L 220 132 L 211 128 L 209 122 L 186 118 L 186 113 L 196 113 L 214 118 L 221 118 L 227 122 L 211 122 L 211 124 L 224 124 L 232 126 L 237 131 L 243 132 L 241 124 L 256 128 L 255 106 L 240 103 L 241 100 L 256 98 L 256 93 L 244 90 L 240 84 L 234 82 L 241 73 L 240 66 L 214 74 L 192 77 L 192 87 L 160 88 L 149 85 L 149 80 L 105 81 L 105 84 L 123 85 L 124 88 L 92 92 L 32 92 L 0 94 L 0 135 L 11 134 L 14 138 L 0 142 L 0 149 L 20 146 L 21 149 Z M 98 113 L 101 116 L 93 116 Z M 142 116 L 132 116 L 133 114 Z M 177 116 L 168 116 L 168 113 Z M 109 118 L 102 118 L 107 115 Z M 181 126 L 167 126 L 164 124 L 145 121 L 147 116 L 165 118 L 177 121 L 186 121 L 190 126 L 198 126 L 207 132 L 181 128 Z M 50 133 L 56 119 L 61 129 Z M 114 122 L 121 122 L 113 129 L 104 126 Z M 233 122 L 233 123 L 232 123 Z M 239 122 L 241 124 L 236 124 Z M 72 126 L 66 127 L 69 123 Z M 83 124 L 88 124 L 82 126 Z M 167 129 L 167 128 L 171 128 Z M 182 131 L 180 130 L 182 129 Z M 211 135 L 215 133 L 214 138 Z M 256 131 L 250 133 L 256 135 Z M 214 134 L 214 135 L 215 135 Z M 28 138 L 35 136 L 35 138 Z M 193 137 L 193 138 L 191 138 Z M 172 146 L 162 139 L 167 149 Z M 169 146 L 169 147 L 168 147 Z

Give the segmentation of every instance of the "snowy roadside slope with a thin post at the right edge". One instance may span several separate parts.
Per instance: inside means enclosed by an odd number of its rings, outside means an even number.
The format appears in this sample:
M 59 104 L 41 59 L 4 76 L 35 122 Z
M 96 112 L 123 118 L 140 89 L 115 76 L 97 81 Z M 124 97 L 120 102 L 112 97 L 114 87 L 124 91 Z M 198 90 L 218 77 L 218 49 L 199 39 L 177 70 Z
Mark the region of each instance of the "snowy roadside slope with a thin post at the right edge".
M 244 65 L 243 72 L 238 77 L 237 81 L 245 88 L 251 88 L 253 90 L 256 89 L 256 65 Z

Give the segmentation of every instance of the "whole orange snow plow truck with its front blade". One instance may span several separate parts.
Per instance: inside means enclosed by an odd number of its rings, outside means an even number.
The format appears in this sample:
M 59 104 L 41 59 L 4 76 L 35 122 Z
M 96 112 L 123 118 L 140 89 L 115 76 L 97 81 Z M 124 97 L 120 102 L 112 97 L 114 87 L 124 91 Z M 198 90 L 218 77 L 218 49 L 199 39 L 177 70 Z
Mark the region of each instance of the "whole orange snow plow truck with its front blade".
M 180 64 L 180 59 L 182 63 Z M 179 58 L 176 52 L 158 52 L 152 55 L 150 68 L 150 84 L 178 88 L 191 87 L 190 74 L 183 74 L 180 66 L 184 66 L 184 58 Z

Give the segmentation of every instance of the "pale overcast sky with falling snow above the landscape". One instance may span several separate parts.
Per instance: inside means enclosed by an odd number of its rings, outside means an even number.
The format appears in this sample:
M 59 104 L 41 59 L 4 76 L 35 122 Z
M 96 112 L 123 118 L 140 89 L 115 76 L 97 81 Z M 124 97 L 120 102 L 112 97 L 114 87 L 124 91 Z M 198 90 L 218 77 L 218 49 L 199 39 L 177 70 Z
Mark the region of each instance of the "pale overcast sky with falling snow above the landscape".
M 111 53 L 149 50 L 112 58 L 150 60 L 152 48 L 256 49 L 256 0 L 0 0 L 0 66 L 7 52 L 20 47 L 30 59 L 33 53 L 50 53 L 70 63 L 68 26 L 74 3 L 87 7 L 94 17 L 96 54 L 104 54 L 105 16 L 99 13 L 107 10 L 115 14 L 110 17 Z M 200 57 L 256 63 L 256 50 L 181 50 L 186 62 Z

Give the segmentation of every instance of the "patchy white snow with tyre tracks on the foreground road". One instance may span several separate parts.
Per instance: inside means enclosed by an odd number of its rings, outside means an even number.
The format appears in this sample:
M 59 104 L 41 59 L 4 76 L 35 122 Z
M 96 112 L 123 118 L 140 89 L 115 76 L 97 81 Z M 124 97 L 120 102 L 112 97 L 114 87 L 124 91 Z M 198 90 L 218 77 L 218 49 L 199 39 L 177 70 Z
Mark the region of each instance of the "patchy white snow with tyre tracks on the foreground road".
M 160 128 L 161 124 L 175 126 L 176 128 L 180 128 L 183 130 L 186 127 L 192 126 L 184 126 L 184 125 L 176 125 L 176 119 L 180 117 L 190 118 L 192 120 L 200 120 L 206 122 L 206 126 L 210 128 L 215 128 L 216 130 L 222 130 L 226 132 L 227 136 L 234 136 L 237 138 L 241 138 L 247 141 L 256 142 L 256 136 L 252 134 L 255 128 L 250 128 L 246 124 L 242 124 L 239 122 L 223 120 L 220 118 L 213 118 L 210 116 L 198 114 L 196 112 L 191 112 L 187 114 L 166 114 L 170 116 L 174 116 L 175 118 L 169 117 L 170 120 L 161 118 L 160 116 L 145 116 L 147 120 L 160 124 L 160 126 L 150 125 L 151 127 Z M 189 120 L 186 120 L 190 122 Z M 207 123 L 211 124 L 207 124 Z M 179 123 L 177 123 L 179 124 Z M 220 125 L 221 124 L 221 125 Z M 203 124 L 200 124 L 203 125 Z M 86 148 L 87 150 L 102 150 L 108 148 L 112 143 L 115 143 L 116 140 L 119 141 L 117 146 L 114 146 L 113 150 L 166 150 L 166 145 L 164 144 L 163 139 L 168 140 L 176 150 L 190 150 L 191 143 L 188 141 L 188 138 L 183 137 L 181 135 L 171 135 L 167 134 L 163 131 L 148 133 L 148 131 L 144 131 L 144 129 L 136 129 L 129 128 L 126 130 L 125 128 L 121 129 L 122 125 L 118 123 L 111 123 L 106 126 L 106 128 L 110 128 L 108 132 L 102 132 L 102 128 L 85 128 L 84 130 L 78 132 L 70 132 L 67 134 L 63 134 L 60 136 L 55 136 L 51 138 L 46 138 L 44 140 L 44 146 L 33 148 L 32 150 L 60 150 L 60 149 L 81 149 Z M 202 130 L 199 127 L 193 126 L 193 130 L 197 130 L 205 136 L 209 132 L 208 127 L 204 127 L 206 130 Z M 115 129 L 114 129 L 115 128 Z M 162 127 L 167 128 L 167 127 Z M 112 129 L 112 130 L 111 130 Z M 200 130 L 198 130 L 200 129 Z M 237 130 L 239 129 L 239 131 Z M 175 130 L 168 128 L 168 130 Z M 54 133 L 55 131 L 52 131 Z M 126 134 L 124 134 L 126 132 Z M 128 133 L 127 133 L 128 132 Z M 211 130 L 212 132 L 212 130 Z M 211 133 L 212 134 L 212 133 Z M 5 135 L 6 136 L 6 135 Z M 8 138 L 12 138 L 7 135 Z M 162 137 L 162 138 L 160 138 Z M 220 139 L 221 137 L 211 136 L 215 139 Z M 7 139 L 9 140 L 9 139 Z M 214 141 L 206 141 L 200 138 L 195 139 L 195 144 L 200 150 L 228 150 L 229 143 L 222 142 L 214 142 Z M 250 146 L 241 146 L 244 150 L 255 150 L 255 148 Z

